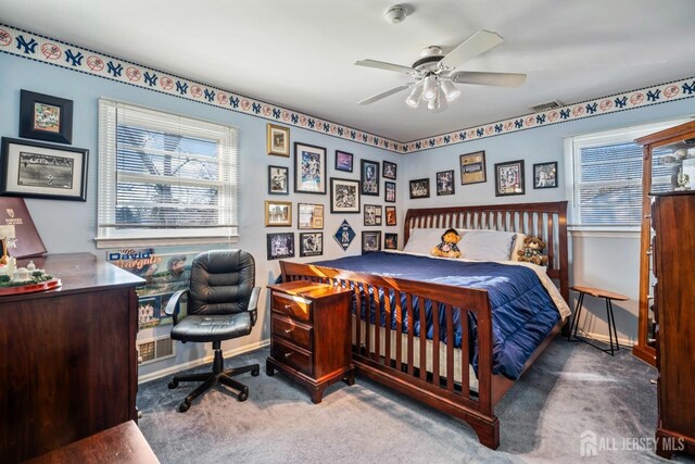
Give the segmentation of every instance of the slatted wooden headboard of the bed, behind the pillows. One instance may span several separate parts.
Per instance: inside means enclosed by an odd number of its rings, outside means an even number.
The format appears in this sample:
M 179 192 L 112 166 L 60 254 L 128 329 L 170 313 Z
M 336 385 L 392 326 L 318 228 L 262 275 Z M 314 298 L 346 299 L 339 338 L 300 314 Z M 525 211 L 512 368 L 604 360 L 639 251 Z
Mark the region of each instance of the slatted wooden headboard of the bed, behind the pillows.
M 560 294 L 569 301 L 567 201 L 408 210 L 404 243 L 410 229 L 424 227 L 506 230 L 540 237 L 547 246 L 547 274 L 559 281 Z

